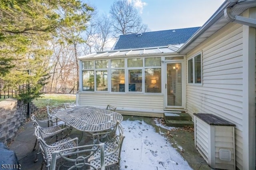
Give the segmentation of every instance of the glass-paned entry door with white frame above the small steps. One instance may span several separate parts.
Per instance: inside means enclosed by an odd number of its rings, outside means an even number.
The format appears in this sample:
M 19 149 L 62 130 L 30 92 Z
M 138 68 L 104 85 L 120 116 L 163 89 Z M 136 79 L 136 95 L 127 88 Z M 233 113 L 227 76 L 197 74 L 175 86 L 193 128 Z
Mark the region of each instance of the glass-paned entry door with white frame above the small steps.
M 184 108 L 183 63 L 168 62 L 165 68 L 165 107 Z

